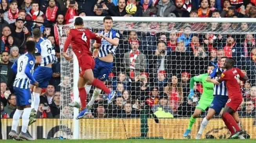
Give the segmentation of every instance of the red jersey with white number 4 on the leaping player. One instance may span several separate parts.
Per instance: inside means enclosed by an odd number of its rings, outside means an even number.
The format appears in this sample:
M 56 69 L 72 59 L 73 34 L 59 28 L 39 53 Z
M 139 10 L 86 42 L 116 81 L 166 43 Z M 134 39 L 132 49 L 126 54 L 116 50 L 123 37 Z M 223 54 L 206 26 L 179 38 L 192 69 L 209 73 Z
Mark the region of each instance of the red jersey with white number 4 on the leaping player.
M 66 52 L 69 44 L 71 43 L 71 47 L 77 58 L 80 58 L 84 54 L 92 55 L 90 50 L 90 39 L 95 39 L 96 43 L 101 44 L 101 38 L 97 37 L 97 35 L 91 32 L 89 29 L 70 29 L 63 51 Z

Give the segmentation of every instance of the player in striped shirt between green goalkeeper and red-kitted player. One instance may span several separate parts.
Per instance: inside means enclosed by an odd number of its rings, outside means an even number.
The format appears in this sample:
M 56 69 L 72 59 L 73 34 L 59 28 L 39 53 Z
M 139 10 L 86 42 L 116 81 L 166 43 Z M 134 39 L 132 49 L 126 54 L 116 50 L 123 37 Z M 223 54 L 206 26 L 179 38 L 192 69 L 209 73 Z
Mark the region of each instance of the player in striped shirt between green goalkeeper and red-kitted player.
M 224 71 L 224 63 L 225 59 L 227 57 L 222 57 L 220 61 L 220 68 L 216 67 L 212 70 L 212 73 L 207 77 L 206 81 L 208 82 L 214 82 L 214 79 L 217 79 L 222 72 Z M 214 78 L 214 79 L 212 79 Z M 215 80 L 216 81 L 216 80 Z M 203 121 L 200 125 L 200 129 L 198 131 L 198 134 L 196 135 L 196 139 L 201 139 L 203 130 L 209 123 L 209 120 L 211 120 L 212 116 L 214 116 L 215 113 L 218 113 L 222 115 L 222 108 L 225 107 L 225 104 L 228 100 L 228 92 L 226 88 L 225 82 L 221 82 L 220 84 L 214 85 L 214 92 L 213 92 L 213 100 L 209 107 L 208 113 L 205 118 L 203 118 Z M 236 123 L 238 123 L 238 126 L 240 126 L 240 120 L 238 117 L 238 112 L 236 111 L 235 114 L 232 114 L 234 119 L 236 120 Z M 239 135 L 240 139 L 245 139 L 242 135 Z

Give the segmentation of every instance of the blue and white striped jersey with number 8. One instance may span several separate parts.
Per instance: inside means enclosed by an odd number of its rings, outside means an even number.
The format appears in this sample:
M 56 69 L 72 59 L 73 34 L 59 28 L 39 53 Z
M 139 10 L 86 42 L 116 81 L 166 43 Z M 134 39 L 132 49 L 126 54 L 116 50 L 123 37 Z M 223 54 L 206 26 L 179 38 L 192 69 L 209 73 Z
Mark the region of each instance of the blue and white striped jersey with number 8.
M 34 71 L 34 62 L 34 56 L 32 54 L 25 53 L 21 55 L 15 63 L 13 63 L 11 69 L 16 73 L 16 78 L 13 83 L 14 87 L 28 89 L 30 80 L 35 82 L 35 79 L 32 76 Z

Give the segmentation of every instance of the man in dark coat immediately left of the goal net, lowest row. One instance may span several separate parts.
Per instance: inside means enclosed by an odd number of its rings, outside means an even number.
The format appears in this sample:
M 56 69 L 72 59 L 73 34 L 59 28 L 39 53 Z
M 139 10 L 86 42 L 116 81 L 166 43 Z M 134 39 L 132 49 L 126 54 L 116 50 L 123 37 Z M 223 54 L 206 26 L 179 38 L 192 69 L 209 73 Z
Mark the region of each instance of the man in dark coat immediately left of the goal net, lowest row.
M 54 93 L 53 102 L 49 105 L 51 108 L 51 113 L 54 118 L 60 118 L 60 104 L 61 104 L 61 96 L 60 91 L 56 91 Z

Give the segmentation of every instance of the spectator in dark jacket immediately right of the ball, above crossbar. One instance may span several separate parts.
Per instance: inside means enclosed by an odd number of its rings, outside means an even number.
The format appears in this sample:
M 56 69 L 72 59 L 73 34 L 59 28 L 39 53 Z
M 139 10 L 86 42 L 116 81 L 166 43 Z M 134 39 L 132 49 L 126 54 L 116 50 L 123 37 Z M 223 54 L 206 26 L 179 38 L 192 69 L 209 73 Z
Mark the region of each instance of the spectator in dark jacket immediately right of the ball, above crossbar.
M 156 14 L 156 7 L 152 5 L 152 0 L 140 0 L 140 6 L 142 9 L 142 16 L 149 17 L 152 14 Z

